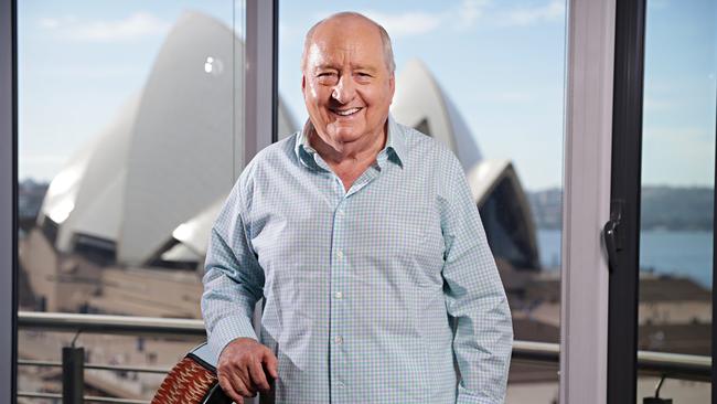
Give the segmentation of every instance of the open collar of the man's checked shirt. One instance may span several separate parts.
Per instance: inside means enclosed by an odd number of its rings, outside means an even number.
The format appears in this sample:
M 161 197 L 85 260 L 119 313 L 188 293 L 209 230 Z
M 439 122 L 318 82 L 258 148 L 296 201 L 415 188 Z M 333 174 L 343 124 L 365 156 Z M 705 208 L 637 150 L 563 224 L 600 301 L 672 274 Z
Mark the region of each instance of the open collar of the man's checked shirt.
M 396 123 L 390 114 L 388 114 L 387 127 L 388 135 L 386 137 L 386 146 L 384 146 L 383 150 L 378 152 L 376 162 L 378 166 L 383 166 L 386 160 L 389 160 L 403 168 L 406 158 L 404 129 Z M 311 120 L 307 120 L 303 125 L 303 129 L 297 134 L 293 151 L 299 161 L 303 162 L 307 167 L 329 171 L 327 168 L 322 167 L 322 164 L 319 164 L 317 161 L 317 150 L 309 143 L 309 130 L 311 129 Z

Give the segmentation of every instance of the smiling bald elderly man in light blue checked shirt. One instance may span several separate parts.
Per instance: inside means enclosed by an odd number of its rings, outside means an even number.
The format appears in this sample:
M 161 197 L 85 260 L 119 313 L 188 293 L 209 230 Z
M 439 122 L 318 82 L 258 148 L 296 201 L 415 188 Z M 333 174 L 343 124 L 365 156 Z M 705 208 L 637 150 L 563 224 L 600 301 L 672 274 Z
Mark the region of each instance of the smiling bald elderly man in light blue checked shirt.
M 332 15 L 302 70 L 309 121 L 254 158 L 212 230 L 202 310 L 222 387 L 237 403 L 503 402 L 505 293 L 456 157 L 388 114 L 388 34 Z

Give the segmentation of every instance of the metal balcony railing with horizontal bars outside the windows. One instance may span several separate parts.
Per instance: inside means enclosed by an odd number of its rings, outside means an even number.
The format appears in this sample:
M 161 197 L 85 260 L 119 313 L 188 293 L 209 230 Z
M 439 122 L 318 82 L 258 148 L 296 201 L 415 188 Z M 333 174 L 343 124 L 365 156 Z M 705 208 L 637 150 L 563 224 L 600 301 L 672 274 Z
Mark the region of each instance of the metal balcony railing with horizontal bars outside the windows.
M 206 331 L 202 320 L 168 319 L 150 317 L 73 315 L 56 312 L 18 313 L 18 326 L 25 330 L 44 330 L 62 332 L 83 332 L 125 336 L 171 336 L 205 338 Z M 559 363 L 559 344 L 532 341 L 514 341 L 513 360 L 538 362 L 546 364 Z M 57 361 L 19 360 L 21 366 L 63 366 Z M 638 352 L 638 368 L 642 374 L 661 378 L 709 382 L 711 379 L 711 358 L 653 351 Z M 84 369 L 127 371 L 139 373 L 167 373 L 170 369 L 150 366 L 120 366 L 110 364 L 86 363 Z M 65 381 L 63 381 L 65 383 Z M 19 392 L 20 397 L 62 398 L 62 394 Z M 85 402 L 143 404 L 148 401 L 84 396 Z

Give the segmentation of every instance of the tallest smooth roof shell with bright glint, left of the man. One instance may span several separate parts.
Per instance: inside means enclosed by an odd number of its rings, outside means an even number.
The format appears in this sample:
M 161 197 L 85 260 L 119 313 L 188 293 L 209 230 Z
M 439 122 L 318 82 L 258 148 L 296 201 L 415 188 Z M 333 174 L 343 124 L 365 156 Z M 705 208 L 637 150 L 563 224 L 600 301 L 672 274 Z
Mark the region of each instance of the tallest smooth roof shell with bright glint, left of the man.
M 218 21 L 186 13 L 159 52 L 143 88 L 127 159 L 118 261 L 141 263 L 233 182 L 232 145 L 243 108 L 244 44 Z M 236 50 L 236 51 L 235 51 Z M 211 59 L 212 72 L 205 63 Z M 235 137 L 237 136 L 237 137 Z M 240 138 L 240 137 L 239 137 Z

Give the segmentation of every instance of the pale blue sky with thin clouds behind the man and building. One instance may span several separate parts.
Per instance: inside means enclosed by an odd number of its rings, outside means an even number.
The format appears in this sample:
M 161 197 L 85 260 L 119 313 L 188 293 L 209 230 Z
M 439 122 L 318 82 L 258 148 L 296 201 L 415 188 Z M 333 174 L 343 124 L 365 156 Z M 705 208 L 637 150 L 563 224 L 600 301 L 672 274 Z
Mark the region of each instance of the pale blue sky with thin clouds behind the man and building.
M 45 180 L 142 87 L 183 10 L 227 24 L 244 12 L 239 3 L 216 0 L 22 1 L 19 8 L 20 178 Z M 564 2 L 283 0 L 279 91 L 298 121 L 306 119 L 303 34 L 342 10 L 386 26 L 399 76 L 407 61 L 426 63 L 484 157 L 512 159 L 529 190 L 559 187 Z M 649 0 L 644 183 L 714 183 L 716 10 L 708 0 Z M 240 34 L 240 24 L 236 29 Z

